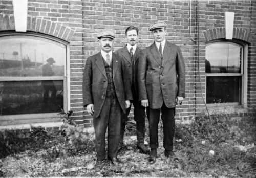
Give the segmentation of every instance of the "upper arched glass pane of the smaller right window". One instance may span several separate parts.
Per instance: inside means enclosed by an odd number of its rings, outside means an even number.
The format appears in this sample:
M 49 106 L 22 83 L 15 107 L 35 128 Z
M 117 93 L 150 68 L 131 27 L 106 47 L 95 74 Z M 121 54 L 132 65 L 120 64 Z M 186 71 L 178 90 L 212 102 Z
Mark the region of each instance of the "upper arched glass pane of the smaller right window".
M 206 73 L 241 73 L 242 46 L 228 42 L 208 44 L 205 55 Z

